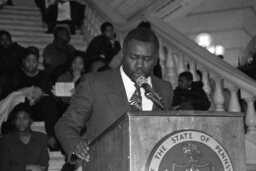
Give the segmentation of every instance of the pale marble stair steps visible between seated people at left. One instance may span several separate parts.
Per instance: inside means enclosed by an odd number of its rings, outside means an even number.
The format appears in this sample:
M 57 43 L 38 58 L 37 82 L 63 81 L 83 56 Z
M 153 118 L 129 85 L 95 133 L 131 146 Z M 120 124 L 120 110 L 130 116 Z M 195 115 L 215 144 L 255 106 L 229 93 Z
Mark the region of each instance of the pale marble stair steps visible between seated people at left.
M 10 32 L 13 41 L 23 47 L 38 47 L 40 54 L 53 40 L 52 34 L 44 33 L 46 29 L 42 27 L 41 15 L 36 8 L 4 6 L 0 9 L 0 30 Z M 70 44 L 78 50 L 86 49 L 86 39 L 79 30 L 76 31 L 76 35 L 71 36 Z M 35 122 L 32 129 L 45 133 L 43 122 Z M 60 171 L 65 157 L 61 152 L 49 152 L 49 154 L 49 171 Z

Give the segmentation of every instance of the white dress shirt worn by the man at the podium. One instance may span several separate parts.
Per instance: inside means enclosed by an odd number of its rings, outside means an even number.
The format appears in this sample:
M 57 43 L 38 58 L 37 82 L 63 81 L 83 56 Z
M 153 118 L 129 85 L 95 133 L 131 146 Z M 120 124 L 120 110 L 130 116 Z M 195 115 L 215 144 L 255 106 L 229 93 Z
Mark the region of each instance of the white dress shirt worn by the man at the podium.
M 120 72 L 121 72 L 122 81 L 124 83 L 127 100 L 130 101 L 133 93 L 136 90 L 135 83 L 126 75 L 126 73 L 123 70 L 123 66 L 120 67 Z M 148 84 L 152 86 L 151 77 L 148 77 L 147 81 L 148 81 Z M 145 90 L 143 88 L 140 88 L 140 92 L 142 97 L 142 110 L 152 111 L 153 102 L 145 96 Z

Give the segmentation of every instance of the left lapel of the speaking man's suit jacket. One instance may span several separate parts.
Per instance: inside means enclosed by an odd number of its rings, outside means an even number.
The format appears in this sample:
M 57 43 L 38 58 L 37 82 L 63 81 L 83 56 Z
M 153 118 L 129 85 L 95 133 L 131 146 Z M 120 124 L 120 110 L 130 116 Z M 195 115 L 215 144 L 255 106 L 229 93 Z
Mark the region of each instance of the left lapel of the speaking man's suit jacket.
M 120 68 L 112 70 L 112 78 L 110 78 L 107 96 L 117 115 L 124 114 L 130 110 Z

